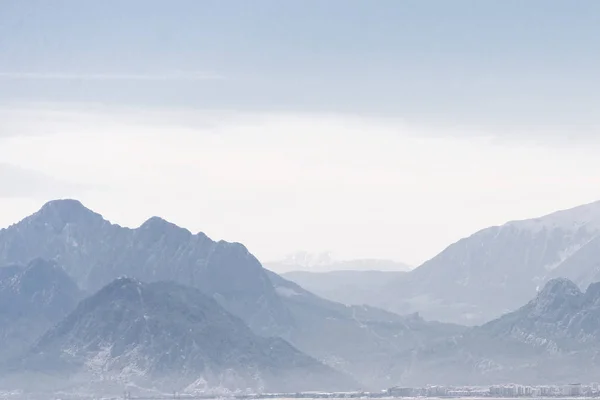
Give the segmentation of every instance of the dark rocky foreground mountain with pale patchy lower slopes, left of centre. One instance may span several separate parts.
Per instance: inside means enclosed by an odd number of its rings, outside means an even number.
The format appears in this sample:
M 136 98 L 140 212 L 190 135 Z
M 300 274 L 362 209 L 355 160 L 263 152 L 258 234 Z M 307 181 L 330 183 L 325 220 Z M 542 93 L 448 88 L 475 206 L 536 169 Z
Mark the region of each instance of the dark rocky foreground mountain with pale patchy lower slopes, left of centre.
M 281 339 L 254 334 L 199 290 L 120 278 L 82 301 L 16 366 L 54 382 L 162 390 L 336 390 L 344 375 Z

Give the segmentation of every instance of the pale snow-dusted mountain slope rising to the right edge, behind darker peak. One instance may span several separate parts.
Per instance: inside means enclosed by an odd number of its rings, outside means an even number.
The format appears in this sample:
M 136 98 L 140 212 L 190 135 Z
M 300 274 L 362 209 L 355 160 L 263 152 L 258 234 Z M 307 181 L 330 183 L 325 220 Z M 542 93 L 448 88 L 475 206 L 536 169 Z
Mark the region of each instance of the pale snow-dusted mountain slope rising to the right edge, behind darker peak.
M 555 277 L 600 278 L 600 202 L 484 229 L 391 282 L 370 304 L 470 325 L 517 309 Z

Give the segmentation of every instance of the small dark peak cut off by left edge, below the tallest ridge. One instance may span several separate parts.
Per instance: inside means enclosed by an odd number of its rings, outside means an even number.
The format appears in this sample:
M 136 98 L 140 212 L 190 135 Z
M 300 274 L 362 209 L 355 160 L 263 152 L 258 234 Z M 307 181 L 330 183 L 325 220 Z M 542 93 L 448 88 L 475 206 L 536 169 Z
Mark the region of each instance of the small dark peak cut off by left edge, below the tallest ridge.
M 0 361 L 19 354 L 72 311 L 82 294 L 56 264 L 41 259 L 0 267 Z

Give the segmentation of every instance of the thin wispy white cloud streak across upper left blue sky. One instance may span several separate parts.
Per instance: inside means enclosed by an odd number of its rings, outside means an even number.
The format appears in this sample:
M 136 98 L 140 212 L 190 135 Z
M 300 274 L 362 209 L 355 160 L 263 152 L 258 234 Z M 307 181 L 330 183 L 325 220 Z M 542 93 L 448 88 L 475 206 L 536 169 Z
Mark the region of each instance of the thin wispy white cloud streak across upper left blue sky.
M 224 79 L 222 75 L 206 72 L 137 73 L 54 73 L 0 71 L 0 79 L 15 80 L 86 80 L 86 81 L 203 81 Z

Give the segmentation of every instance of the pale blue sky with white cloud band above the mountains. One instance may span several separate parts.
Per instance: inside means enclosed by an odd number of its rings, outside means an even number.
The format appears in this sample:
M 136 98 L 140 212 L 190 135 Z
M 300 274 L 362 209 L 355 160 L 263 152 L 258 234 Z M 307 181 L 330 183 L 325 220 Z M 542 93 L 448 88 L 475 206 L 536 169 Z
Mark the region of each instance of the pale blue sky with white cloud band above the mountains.
M 594 0 L 0 0 L 0 226 L 419 265 L 600 200 L 598 37 Z

